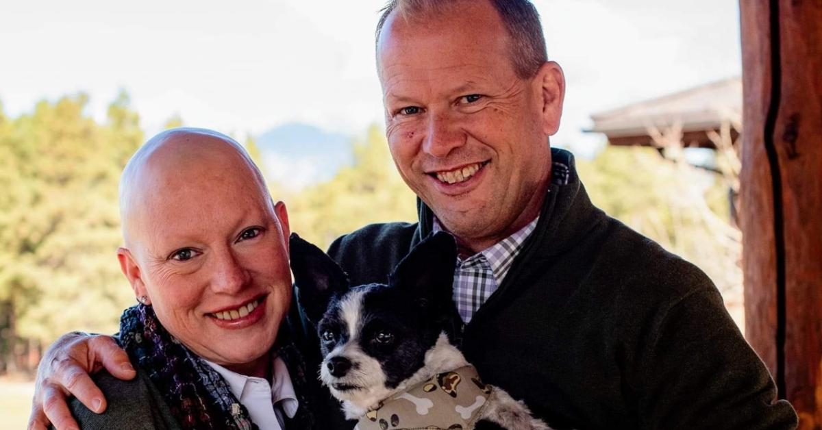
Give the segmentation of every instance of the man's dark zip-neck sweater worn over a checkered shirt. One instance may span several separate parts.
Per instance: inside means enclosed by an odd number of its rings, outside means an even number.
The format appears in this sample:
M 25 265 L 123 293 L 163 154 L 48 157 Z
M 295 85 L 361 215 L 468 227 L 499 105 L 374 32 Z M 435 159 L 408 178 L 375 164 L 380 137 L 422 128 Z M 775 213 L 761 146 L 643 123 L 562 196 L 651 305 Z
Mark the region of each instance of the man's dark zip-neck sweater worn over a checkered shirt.
M 552 154 L 569 183 L 550 187 L 506 279 L 464 326 L 483 380 L 554 428 L 795 428 L 711 280 L 594 207 L 573 156 Z M 369 225 L 329 253 L 353 284 L 386 282 L 431 229 L 420 204 L 418 224 Z

